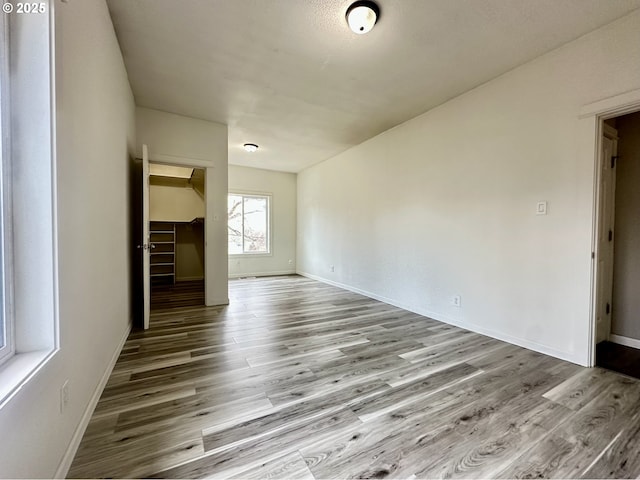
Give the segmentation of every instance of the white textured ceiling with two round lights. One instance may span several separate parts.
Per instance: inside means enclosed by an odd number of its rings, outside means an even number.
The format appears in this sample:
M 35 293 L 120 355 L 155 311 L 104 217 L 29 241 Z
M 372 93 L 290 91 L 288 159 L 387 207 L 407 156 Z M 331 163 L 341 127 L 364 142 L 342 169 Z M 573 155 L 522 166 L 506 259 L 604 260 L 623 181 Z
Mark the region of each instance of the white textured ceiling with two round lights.
M 640 0 L 108 0 L 136 103 L 229 126 L 297 172 L 640 8 Z M 260 145 L 249 154 L 242 144 Z

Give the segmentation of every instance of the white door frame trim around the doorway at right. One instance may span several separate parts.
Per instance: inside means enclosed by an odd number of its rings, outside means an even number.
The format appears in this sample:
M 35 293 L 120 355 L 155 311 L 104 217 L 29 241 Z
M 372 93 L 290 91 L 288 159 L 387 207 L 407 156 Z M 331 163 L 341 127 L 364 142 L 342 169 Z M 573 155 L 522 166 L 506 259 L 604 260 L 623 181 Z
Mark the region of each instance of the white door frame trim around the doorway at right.
M 585 105 L 580 110 L 580 132 L 584 133 L 580 142 L 580 155 L 592 155 L 593 162 L 593 196 L 592 196 L 592 228 L 591 228 L 591 291 L 589 305 L 589 328 L 587 335 L 587 366 L 594 366 L 596 361 L 597 337 L 597 304 L 598 304 L 598 241 L 602 222 L 602 192 L 600 188 L 602 137 L 605 131 L 604 121 L 629 113 L 640 111 L 640 89 L 605 98 Z

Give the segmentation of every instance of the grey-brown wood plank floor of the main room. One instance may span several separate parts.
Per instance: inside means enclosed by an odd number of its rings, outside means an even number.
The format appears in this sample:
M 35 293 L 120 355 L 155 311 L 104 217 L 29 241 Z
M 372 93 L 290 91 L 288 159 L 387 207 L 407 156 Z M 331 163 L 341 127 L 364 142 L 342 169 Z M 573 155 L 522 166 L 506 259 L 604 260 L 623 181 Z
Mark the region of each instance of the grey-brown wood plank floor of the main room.
M 637 380 L 301 277 L 230 293 L 131 334 L 71 477 L 640 475 Z

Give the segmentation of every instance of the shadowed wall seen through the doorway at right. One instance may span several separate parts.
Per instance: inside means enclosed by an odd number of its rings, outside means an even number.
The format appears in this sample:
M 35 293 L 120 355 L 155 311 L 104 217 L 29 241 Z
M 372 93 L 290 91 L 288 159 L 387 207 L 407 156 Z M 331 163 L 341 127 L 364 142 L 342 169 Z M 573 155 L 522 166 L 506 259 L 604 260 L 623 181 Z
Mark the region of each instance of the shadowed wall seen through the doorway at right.
M 616 218 L 611 333 L 640 340 L 640 113 L 616 122 Z

